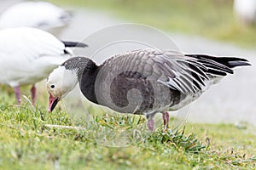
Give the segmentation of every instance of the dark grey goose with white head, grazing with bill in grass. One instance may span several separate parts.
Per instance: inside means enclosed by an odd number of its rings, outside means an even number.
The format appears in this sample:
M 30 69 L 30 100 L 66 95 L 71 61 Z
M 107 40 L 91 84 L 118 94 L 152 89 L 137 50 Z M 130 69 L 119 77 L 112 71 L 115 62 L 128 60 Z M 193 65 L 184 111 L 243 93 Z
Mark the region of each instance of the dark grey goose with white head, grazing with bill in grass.
M 102 65 L 84 57 L 67 59 L 48 78 L 49 111 L 77 82 L 84 96 L 121 113 L 143 114 L 154 130 L 154 115 L 175 111 L 197 99 L 247 59 L 139 49 L 113 56 Z

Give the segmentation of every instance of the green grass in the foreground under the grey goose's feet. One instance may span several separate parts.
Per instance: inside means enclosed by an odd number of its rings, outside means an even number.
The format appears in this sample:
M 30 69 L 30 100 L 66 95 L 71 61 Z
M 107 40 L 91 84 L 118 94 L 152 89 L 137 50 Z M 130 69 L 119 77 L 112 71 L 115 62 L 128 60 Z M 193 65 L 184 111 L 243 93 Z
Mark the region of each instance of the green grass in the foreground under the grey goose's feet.
M 61 109 L 48 113 L 47 94 L 39 93 L 37 108 L 25 99 L 17 107 L 8 89 L 0 92 L 0 169 L 256 168 L 255 127 L 249 125 L 187 123 L 149 133 L 143 116 L 103 113 L 88 122 Z

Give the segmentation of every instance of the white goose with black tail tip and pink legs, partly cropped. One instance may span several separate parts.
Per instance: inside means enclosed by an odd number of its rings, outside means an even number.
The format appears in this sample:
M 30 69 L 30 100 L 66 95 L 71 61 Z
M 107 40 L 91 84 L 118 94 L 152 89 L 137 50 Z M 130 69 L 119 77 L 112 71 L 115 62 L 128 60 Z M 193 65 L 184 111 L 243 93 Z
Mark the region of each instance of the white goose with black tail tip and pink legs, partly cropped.
M 48 77 L 49 72 L 71 56 L 67 47 L 85 47 L 79 42 L 61 42 L 46 31 L 20 27 L 0 31 L 0 83 L 15 89 L 20 105 L 20 86 L 32 85 Z M 69 53 L 70 52 L 70 53 Z

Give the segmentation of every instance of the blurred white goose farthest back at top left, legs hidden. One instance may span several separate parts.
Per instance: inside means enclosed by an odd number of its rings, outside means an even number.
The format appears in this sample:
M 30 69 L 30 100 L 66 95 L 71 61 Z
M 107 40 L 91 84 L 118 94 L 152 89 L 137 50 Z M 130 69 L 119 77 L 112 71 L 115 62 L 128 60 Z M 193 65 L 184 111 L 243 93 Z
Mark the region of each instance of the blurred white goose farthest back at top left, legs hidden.
M 70 20 L 70 14 L 52 3 L 22 2 L 3 12 L 0 17 L 0 28 L 26 26 L 49 31 L 56 27 L 67 26 Z

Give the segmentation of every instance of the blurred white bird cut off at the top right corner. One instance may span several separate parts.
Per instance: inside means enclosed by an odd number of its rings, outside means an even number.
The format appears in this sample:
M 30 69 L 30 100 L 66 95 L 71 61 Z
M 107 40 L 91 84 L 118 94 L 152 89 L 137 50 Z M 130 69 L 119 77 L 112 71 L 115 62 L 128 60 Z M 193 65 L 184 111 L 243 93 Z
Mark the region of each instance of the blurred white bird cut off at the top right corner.
M 234 11 L 244 24 L 256 22 L 256 1 L 255 0 L 235 0 Z

